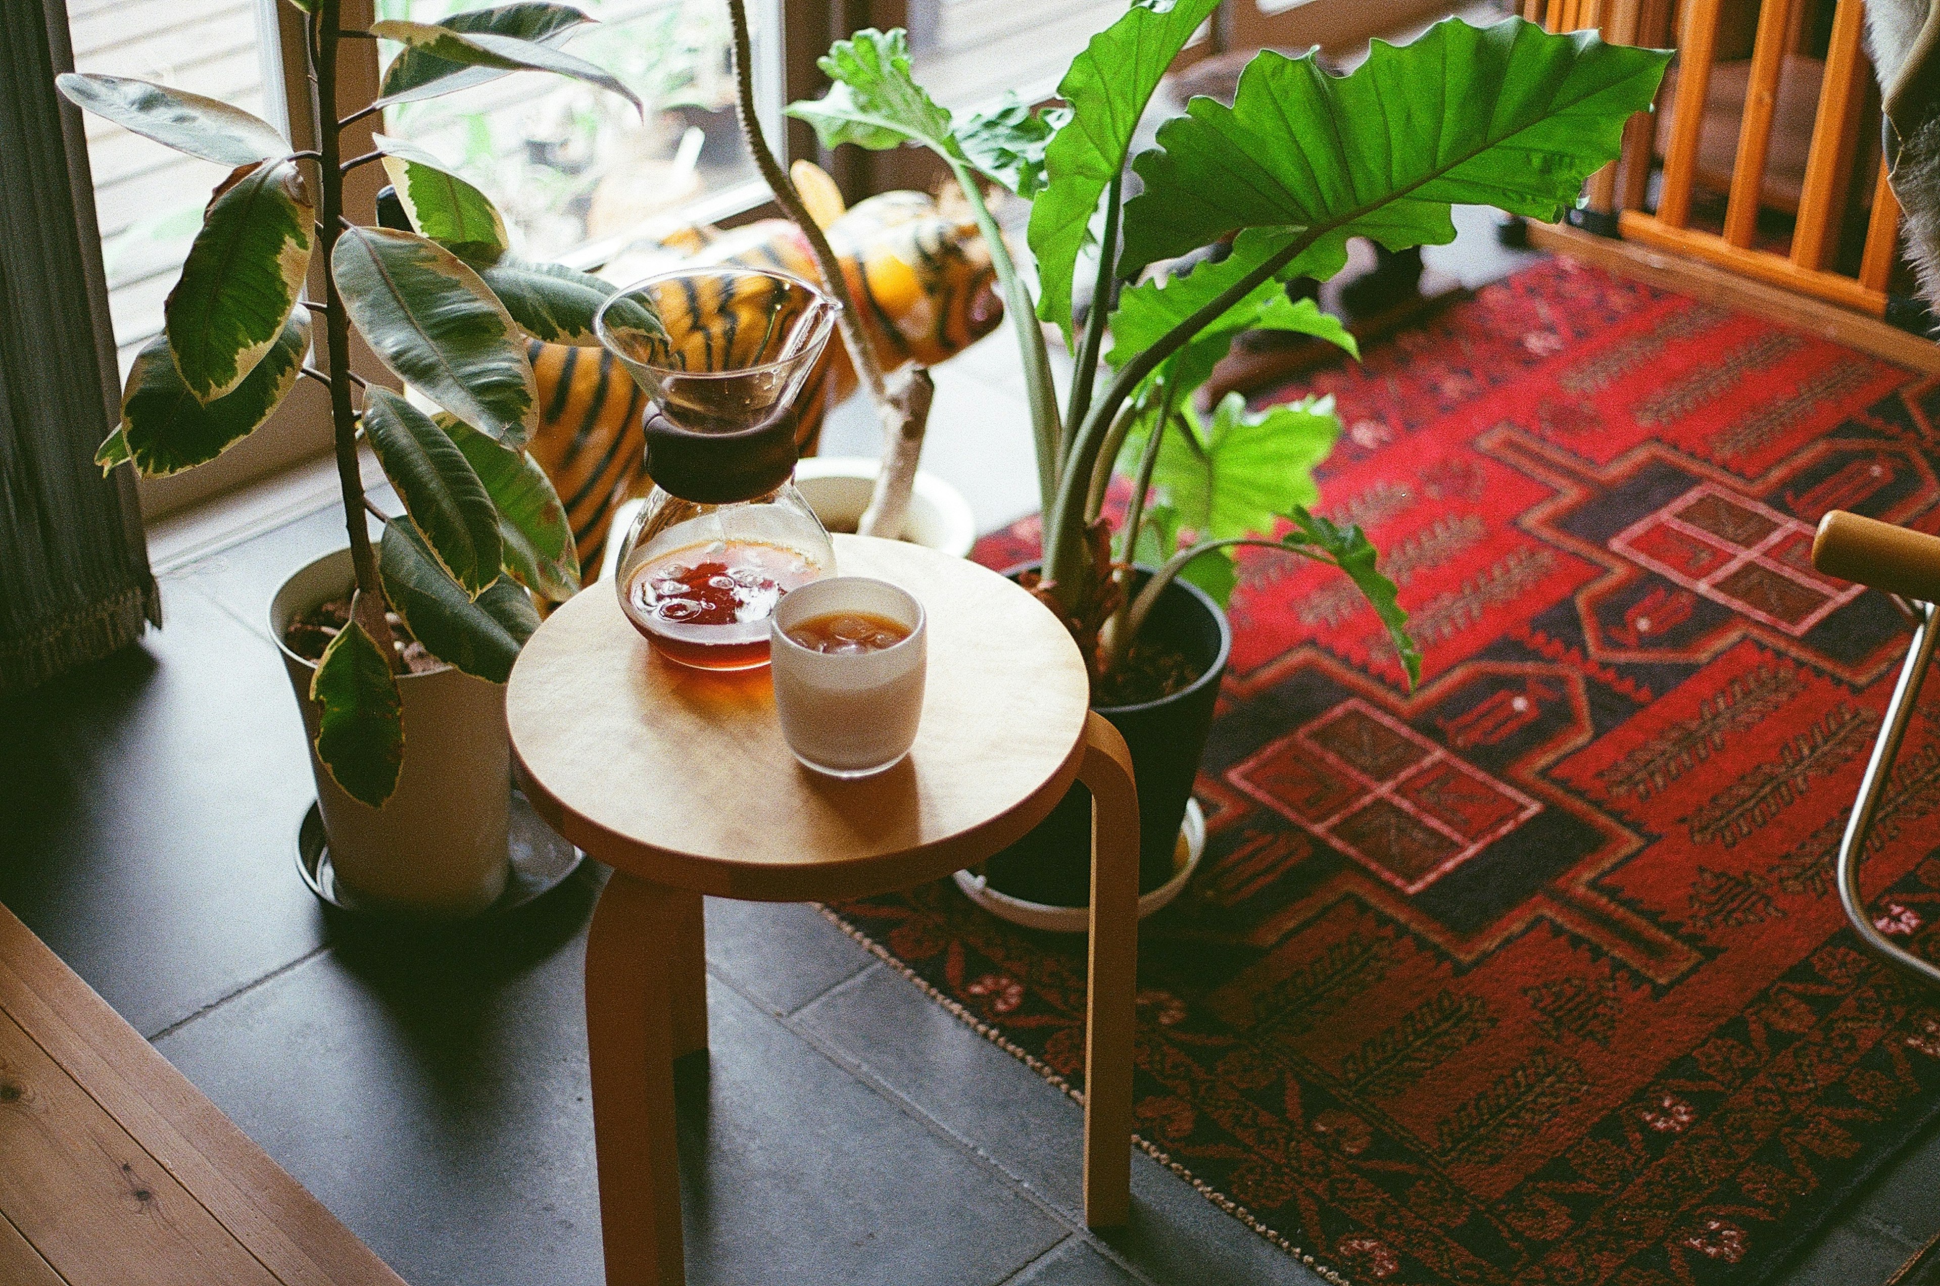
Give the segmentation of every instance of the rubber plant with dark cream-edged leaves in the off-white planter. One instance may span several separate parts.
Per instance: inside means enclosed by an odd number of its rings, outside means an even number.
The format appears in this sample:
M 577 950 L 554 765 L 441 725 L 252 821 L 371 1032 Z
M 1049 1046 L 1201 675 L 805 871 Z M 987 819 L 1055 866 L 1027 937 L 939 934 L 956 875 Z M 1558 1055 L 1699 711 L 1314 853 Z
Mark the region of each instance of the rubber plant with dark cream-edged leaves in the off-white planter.
M 516 70 L 592 81 L 638 107 L 599 66 L 561 48 L 590 19 L 565 4 L 506 4 L 440 23 L 340 25 L 341 0 L 305 14 L 316 147 L 194 93 L 118 76 L 64 74 L 60 91 L 136 134 L 231 169 L 217 184 L 163 308 L 165 330 L 134 361 L 120 425 L 97 462 L 161 477 L 213 460 L 258 429 L 299 378 L 328 386 L 355 594 L 351 621 L 316 665 L 316 749 L 345 791 L 380 807 L 404 764 L 398 650 L 386 605 L 440 661 L 504 683 L 537 627 L 532 594 L 578 590 L 565 506 L 524 452 L 537 407 L 526 338 L 594 345 L 603 281 L 514 258 L 493 204 L 438 157 L 376 136 L 343 157 L 343 130 L 390 103 Z M 343 41 L 398 41 L 378 97 L 338 101 Z M 343 177 L 382 165 L 415 231 L 343 215 Z M 324 297 L 307 297 L 312 256 Z M 650 324 L 650 322 L 644 322 Z M 351 328 L 442 411 L 351 370 Z M 320 332 L 320 334 L 318 334 Z M 310 353 L 316 359 L 310 359 Z M 404 502 L 365 497 L 357 440 Z M 367 510 L 384 520 L 372 547 Z M 530 592 L 530 594 L 528 594 Z

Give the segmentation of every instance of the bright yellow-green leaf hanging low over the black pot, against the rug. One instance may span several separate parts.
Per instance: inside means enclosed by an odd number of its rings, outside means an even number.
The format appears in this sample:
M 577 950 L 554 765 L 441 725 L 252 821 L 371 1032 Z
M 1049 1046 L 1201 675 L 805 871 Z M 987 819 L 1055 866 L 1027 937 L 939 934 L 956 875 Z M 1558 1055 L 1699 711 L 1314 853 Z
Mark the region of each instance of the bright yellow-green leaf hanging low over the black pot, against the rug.
M 1189 403 L 1183 409 L 1187 423 L 1197 419 Z M 1143 427 L 1133 431 L 1137 440 L 1127 440 L 1129 458 L 1139 456 L 1145 433 Z M 1313 466 L 1327 458 L 1339 434 L 1333 398 L 1249 411 L 1245 398 L 1226 394 L 1203 433 L 1166 433 L 1152 485 L 1197 539 L 1265 535 L 1282 512 L 1319 498 Z

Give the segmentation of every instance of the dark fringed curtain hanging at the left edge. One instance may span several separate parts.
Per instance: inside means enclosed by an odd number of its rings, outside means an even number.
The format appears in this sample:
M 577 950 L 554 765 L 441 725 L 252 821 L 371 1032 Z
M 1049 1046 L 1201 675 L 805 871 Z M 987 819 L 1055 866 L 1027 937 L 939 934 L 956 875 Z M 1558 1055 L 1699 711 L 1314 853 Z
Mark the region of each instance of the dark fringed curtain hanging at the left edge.
M 161 625 L 120 419 L 101 237 L 64 0 L 0 0 L 0 692 Z

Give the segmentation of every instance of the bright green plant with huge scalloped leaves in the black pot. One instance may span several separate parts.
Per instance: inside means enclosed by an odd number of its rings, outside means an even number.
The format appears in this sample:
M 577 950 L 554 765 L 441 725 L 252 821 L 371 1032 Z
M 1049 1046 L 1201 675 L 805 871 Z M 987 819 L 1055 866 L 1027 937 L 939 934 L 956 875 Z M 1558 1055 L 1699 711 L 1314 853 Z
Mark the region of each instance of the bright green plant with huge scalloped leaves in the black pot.
M 1071 62 L 1063 105 L 1013 97 L 968 120 L 916 83 L 902 31 L 861 31 L 821 60 L 830 91 L 790 113 L 826 145 L 929 147 L 962 186 L 1024 355 L 1044 506 L 1036 588 L 1094 677 L 1123 663 L 1174 576 L 1224 605 L 1232 549 L 1269 545 L 1346 572 L 1416 683 L 1420 654 L 1368 537 L 1308 508 L 1313 466 L 1341 431 L 1331 402 L 1249 411 L 1234 394 L 1205 423 L 1191 394 L 1242 330 L 1304 332 L 1352 353 L 1339 322 L 1282 289 L 1337 273 L 1350 237 L 1389 250 L 1441 244 L 1455 239 L 1451 204 L 1562 217 L 1583 178 L 1616 157 L 1632 113 L 1649 111 L 1668 54 L 1521 19 L 1447 19 L 1405 47 L 1375 41 L 1341 78 L 1311 52 L 1263 50 L 1232 107 L 1193 99 L 1158 128 L 1158 145 L 1131 161 L 1143 192 L 1121 200 L 1139 118 L 1216 6 L 1133 0 Z M 984 182 L 1030 202 L 1036 299 Z M 1168 266 L 1218 242 L 1224 258 Z M 1092 305 L 1079 324 L 1073 295 L 1088 250 Z M 1063 409 L 1040 320 L 1077 357 Z M 1135 462 L 1131 508 L 1114 539 L 1102 510 L 1121 456 Z M 1158 564 L 1137 594 L 1135 559 Z

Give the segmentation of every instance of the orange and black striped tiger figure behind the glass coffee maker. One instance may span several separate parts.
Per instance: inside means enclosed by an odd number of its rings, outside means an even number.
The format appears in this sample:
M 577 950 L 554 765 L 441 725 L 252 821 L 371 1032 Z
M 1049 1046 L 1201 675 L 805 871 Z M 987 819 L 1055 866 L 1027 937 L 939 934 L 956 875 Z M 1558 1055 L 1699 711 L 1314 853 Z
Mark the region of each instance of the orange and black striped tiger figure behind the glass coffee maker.
M 976 223 L 945 215 L 922 192 L 885 192 L 844 209 L 834 180 L 797 161 L 797 190 L 826 231 L 856 299 L 861 330 L 885 370 L 935 365 L 976 343 L 1003 320 L 989 248 Z M 656 262 L 658 260 L 658 262 Z M 731 231 L 685 229 L 646 262 L 613 266 L 627 279 L 681 264 L 772 268 L 821 281 L 807 237 L 788 219 Z M 646 394 L 601 347 L 532 341 L 539 427 L 528 450 L 553 479 L 572 522 L 580 566 L 596 566 L 613 508 L 652 485 L 646 477 Z M 797 444 L 813 456 L 826 407 L 856 392 L 840 338 L 823 349 L 801 392 Z

